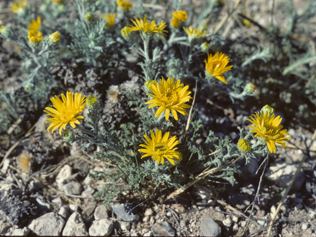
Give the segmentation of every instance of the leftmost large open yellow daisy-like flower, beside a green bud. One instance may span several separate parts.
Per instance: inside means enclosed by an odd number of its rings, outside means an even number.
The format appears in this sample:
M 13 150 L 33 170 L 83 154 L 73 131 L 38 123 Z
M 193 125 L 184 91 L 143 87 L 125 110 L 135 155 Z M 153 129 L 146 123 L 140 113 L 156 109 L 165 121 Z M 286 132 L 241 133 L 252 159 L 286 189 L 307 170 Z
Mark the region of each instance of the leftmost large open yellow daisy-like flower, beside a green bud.
M 67 98 L 66 98 L 67 96 Z M 47 115 L 52 116 L 53 118 L 47 118 L 44 121 L 51 123 L 49 127 L 47 128 L 47 131 L 51 129 L 51 133 L 53 131 L 59 128 L 59 135 L 61 135 L 61 130 L 66 128 L 66 125 L 69 123 L 73 128 L 76 127 L 75 123 L 80 124 L 79 118 L 83 119 L 83 116 L 79 115 L 85 108 L 86 104 L 82 103 L 84 102 L 85 98 L 84 96 L 81 97 L 81 93 L 75 94 L 74 98 L 74 92 L 68 92 L 66 93 L 66 96 L 64 94 L 61 94 L 61 97 L 63 101 L 61 101 L 56 95 L 55 98 L 51 98 L 50 101 L 53 103 L 51 107 L 55 107 L 55 109 L 46 107 L 44 112 L 47 113 Z M 76 117 L 77 116 L 77 117 Z

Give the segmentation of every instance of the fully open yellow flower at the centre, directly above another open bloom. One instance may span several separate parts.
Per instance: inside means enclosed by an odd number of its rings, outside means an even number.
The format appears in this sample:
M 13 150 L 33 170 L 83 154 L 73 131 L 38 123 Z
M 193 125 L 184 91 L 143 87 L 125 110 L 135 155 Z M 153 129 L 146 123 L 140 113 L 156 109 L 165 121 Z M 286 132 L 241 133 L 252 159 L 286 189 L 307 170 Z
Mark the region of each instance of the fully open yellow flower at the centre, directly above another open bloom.
M 162 77 L 161 77 L 162 78 Z M 147 94 L 154 99 L 147 101 L 146 104 L 151 104 L 149 108 L 159 106 L 156 111 L 155 118 L 162 114 L 165 111 L 166 120 L 169 119 L 170 110 L 173 117 L 178 120 L 179 112 L 182 115 L 188 115 L 184 108 L 189 109 L 191 106 L 187 105 L 190 99 L 192 99 L 191 91 L 188 91 L 189 86 L 186 85 L 183 87 L 183 83 L 180 84 L 180 80 L 174 82 L 174 78 L 164 80 L 160 79 L 160 85 L 158 82 L 153 83 L 150 87 L 150 90 L 153 94 Z

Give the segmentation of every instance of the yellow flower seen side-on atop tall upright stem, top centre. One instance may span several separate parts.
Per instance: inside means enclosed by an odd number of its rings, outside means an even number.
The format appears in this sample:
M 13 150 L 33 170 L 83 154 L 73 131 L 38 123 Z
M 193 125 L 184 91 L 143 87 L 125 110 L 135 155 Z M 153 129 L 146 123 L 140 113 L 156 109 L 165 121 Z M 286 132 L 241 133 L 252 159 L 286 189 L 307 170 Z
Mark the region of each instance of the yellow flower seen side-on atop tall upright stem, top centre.
M 166 34 L 164 32 L 167 32 L 166 30 L 163 30 L 167 25 L 165 22 L 161 22 L 159 24 L 156 24 L 155 21 L 152 21 L 152 23 L 149 23 L 147 20 L 147 16 L 145 15 L 144 20 L 139 17 L 139 20 L 135 17 L 136 21 L 133 21 L 130 19 L 135 26 L 128 25 L 130 27 L 130 31 L 140 31 L 141 33 L 149 33 L 150 35 L 155 35 L 157 38 L 157 35 L 161 36 L 163 40 Z M 158 39 L 158 38 L 157 38 Z

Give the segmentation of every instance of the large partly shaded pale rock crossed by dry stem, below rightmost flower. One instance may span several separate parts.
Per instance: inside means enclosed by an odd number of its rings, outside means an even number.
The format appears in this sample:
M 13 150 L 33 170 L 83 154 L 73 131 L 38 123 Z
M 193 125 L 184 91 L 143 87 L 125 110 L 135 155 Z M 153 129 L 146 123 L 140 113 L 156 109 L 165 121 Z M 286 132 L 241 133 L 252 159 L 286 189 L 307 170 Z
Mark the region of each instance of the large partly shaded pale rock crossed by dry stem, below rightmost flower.
M 297 169 L 296 164 L 287 164 L 285 162 L 279 162 L 269 167 L 266 177 L 274 181 L 277 186 L 281 188 L 286 188 L 293 177 Z M 299 172 L 296 179 L 292 185 L 293 191 L 298 191 L 301 189 L 305 180 L 305 176 L 302 172 Z

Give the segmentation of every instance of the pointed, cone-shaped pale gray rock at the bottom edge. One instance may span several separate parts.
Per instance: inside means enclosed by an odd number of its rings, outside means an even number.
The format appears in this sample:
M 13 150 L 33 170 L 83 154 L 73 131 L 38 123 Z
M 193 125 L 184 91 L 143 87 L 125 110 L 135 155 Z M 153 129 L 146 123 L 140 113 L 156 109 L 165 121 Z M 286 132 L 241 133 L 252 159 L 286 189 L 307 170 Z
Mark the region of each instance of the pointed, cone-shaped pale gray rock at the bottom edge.
M 63 230 L 63 236 L 88 236 L 84 220 L 79 212 L 74 212 L 68 218 Z

